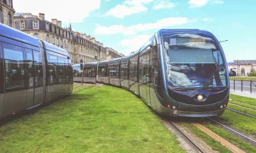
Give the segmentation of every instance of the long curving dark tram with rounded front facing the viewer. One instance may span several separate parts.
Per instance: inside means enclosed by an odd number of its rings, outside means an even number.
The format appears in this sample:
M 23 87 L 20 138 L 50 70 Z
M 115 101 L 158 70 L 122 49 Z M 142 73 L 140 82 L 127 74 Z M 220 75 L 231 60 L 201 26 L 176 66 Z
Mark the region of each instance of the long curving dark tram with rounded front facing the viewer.
M 96 82 L 131 91 L 163 115 L 219 116 L 228 105 L 227 61 L 209 31 L 161 29 L 129 56 L 84 66 L 84 77 L 97 68 Z

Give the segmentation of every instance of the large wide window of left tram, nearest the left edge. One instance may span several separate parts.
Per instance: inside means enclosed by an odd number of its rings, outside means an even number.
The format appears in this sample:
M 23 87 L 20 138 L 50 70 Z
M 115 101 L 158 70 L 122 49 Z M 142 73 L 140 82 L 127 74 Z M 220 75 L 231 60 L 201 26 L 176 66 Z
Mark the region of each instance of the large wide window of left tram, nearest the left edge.
M 25 61 L 21 47 L 3 43 L 6 91 L 25 88 Z

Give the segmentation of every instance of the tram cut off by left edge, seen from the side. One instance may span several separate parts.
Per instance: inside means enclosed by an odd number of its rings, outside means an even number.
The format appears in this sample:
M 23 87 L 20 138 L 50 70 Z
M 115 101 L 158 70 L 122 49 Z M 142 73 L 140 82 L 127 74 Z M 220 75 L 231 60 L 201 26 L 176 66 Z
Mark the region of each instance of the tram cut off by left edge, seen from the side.
M 73 79 L 66 50 L 0 24 L 0 117 L 71 94 Z

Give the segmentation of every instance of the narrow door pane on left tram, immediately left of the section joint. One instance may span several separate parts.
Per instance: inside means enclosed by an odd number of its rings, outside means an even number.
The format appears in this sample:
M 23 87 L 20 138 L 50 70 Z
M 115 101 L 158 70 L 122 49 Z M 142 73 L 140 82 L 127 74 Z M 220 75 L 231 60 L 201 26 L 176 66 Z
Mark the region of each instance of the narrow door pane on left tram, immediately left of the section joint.
M 43 86 L 43 67 L 40 52 L 33 50 L 35 65 L 35 87 Z

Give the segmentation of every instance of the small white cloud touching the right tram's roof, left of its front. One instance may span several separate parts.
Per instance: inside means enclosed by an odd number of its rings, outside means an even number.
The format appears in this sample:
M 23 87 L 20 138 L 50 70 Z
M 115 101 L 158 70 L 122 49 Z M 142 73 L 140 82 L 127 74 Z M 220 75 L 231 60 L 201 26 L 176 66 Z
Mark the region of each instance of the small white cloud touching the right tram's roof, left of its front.
M 142 45 L 146 43 L 150 39 L 150 37 L 151 36 L 148 34 L 141 34 L 128 39 L 124 39 L 120 41 L 120 45 L 122 45 L 122 47 L 125 47 L 125 49 L 120 50 L 120 52 L 124 55 L 129 55 L 131 54 L 131 52 L 135 52 L 136 50 L 138 50 L 138 48 L 142 47 Z

